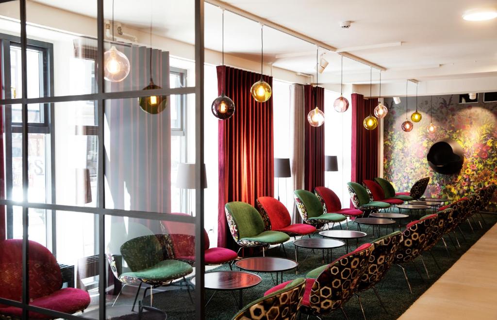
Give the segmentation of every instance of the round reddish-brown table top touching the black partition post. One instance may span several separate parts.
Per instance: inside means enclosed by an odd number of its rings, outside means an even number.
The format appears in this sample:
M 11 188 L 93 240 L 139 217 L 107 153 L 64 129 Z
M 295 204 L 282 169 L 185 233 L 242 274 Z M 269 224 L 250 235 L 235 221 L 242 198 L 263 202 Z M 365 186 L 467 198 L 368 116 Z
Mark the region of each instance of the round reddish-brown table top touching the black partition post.
M 214 271 L 204 275 L 204 287 L 211 290 L 239 290 L 256 286 L 261 278 L 244 271 Z M 195 277 L 191 279 L 195 284 Z

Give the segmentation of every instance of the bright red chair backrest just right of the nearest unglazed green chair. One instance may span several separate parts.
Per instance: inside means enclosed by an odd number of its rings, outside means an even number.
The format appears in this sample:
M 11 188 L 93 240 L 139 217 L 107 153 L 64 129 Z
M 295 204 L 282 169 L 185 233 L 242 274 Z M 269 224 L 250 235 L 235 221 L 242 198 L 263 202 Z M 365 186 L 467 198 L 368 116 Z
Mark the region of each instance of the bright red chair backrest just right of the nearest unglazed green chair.
M 265 230 L 282 229 L 292 223 L 288 209 L 278 199 L 272 196 L 259 196 L 256 205 L 264 221 Z

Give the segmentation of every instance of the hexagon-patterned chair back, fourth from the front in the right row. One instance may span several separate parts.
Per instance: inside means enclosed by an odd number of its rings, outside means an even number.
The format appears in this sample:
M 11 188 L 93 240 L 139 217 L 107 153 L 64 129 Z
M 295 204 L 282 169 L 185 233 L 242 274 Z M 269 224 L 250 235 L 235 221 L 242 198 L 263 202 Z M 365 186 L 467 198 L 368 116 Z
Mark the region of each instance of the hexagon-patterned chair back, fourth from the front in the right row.
M 394 263 L 411 262 L 419 256 L 432 236 L 432 228 L 436 221 L 436 214 L 408 223 L 402 233 L 402 242 L 395 253 Z

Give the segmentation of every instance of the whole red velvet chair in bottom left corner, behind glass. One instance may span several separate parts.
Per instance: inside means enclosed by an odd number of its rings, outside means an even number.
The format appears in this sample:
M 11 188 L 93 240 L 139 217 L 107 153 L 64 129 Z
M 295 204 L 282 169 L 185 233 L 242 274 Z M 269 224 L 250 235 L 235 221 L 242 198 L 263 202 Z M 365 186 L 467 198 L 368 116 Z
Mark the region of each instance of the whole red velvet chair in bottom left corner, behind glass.
M 53 311 L 74 314 L 88 307 L 90 296 L 75 288 L 62 289 L 62 273 L 57 259 L 37 242 L 29 241 L 29 304 Z M 22 240 L 0 241 L 0 297 L 22 300 Z M 0 304 L 0 315 L 22 318 L 22 309 Z M 1 318 L 1 317 L 0 317 Z M 51 316 L 30 311 L 29 319 L 53 319 Z

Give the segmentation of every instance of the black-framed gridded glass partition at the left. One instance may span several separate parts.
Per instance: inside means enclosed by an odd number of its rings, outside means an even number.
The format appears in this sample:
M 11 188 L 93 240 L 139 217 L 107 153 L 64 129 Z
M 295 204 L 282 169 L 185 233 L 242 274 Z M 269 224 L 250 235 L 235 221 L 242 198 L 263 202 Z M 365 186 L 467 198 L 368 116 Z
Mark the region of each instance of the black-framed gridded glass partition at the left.
M 204 318 L 204 2 L 181 2 L 0 3 L 3 316 Z

